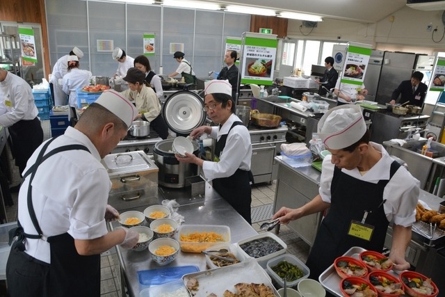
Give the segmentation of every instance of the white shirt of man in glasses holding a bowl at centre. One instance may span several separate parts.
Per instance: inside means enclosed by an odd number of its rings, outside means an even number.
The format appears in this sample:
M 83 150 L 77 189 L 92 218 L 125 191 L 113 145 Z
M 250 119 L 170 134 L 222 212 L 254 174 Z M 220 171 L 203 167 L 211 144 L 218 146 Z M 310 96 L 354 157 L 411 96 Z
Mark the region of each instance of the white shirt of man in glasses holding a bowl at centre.
M 227 134 L 234 122 L 242 122 L 234 113 L 219 129 L 218 126 L 212 127 L 210 137 L 217 140 Z M 250 159 L 252 158 L 252 144 L 250 143 L 250 134 L 244 125 L 235 126 L 227 136 L 227 141 L 223 152 L 220 154 L 220 161 L 204 161 L 202 170 L 207 179 L 216 179 L 229 177 L 240 168 L 250 170 Z

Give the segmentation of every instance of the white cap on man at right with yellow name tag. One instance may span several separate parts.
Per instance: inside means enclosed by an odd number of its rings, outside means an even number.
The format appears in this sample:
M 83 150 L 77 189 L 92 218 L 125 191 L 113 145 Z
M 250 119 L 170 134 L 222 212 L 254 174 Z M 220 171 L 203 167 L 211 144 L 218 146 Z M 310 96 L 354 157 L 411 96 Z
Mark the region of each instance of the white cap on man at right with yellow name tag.
M 318 122 L 318 136 L 332 150 L 341 150 L 359 141 L 366 132 L 362 109 L 345 104 L 330 109 Z

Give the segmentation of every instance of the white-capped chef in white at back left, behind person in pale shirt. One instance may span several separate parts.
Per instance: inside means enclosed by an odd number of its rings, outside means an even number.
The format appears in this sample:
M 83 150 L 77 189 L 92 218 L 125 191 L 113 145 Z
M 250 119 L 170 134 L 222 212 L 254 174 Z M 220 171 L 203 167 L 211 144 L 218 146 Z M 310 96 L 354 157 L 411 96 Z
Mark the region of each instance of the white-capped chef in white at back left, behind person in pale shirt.
M 56 64 L 54 64 L 49 83 L 51 83 L 52 86 L 51 93 L 53 94 L 54 105 L 56 106 L 67 105 L 67 95 L 65 94 L 65 92 L 63 92 L 62 79 L 68 71 L 67 63 L 69 56 L 77 56 L 77 58 L 79 58 L 80 60 L 83 57 L 83 51 L 81 51 L 79 47 L 74 47 L 72 51 L 70 51 L 70 54 L 59 58 Z

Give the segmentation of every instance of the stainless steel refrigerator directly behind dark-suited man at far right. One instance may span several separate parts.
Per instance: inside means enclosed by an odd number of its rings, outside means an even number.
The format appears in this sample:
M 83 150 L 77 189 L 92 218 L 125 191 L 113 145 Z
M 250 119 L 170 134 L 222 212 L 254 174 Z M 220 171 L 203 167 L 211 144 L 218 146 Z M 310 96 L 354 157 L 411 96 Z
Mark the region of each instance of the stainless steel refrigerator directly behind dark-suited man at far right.
M 411 78 L 416 56 L 414 53 L 385 51 L 375 101 L 379 104 L 391 101 L 391 95 L 398 85 Z

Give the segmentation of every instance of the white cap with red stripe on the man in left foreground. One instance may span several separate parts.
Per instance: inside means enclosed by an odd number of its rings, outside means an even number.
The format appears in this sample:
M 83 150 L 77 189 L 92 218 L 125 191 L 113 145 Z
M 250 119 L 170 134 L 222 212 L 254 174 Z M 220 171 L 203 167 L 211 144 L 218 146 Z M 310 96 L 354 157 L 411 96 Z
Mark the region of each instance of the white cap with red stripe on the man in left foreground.
M 136 107 L 129 102 L 127 98 L 115 90 L 106 90 L 97 98 L 95 103 L 104 106 L 108 111 L 111 111 L 127 124 L 131 126 L 134 118 L 138 114 Z

